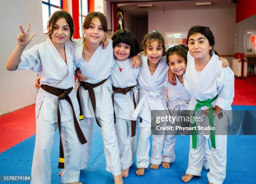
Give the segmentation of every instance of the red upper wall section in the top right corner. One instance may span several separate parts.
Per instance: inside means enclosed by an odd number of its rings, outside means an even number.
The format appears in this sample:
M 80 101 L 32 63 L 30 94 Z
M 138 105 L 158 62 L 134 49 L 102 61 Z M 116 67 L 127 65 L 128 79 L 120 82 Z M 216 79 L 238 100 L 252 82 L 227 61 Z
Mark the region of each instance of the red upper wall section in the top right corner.
M 256 14 L 256 0 L 238 0 L 236 3 L 236 23 Z

